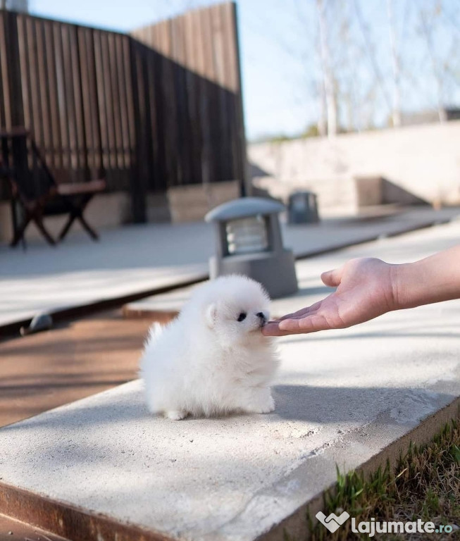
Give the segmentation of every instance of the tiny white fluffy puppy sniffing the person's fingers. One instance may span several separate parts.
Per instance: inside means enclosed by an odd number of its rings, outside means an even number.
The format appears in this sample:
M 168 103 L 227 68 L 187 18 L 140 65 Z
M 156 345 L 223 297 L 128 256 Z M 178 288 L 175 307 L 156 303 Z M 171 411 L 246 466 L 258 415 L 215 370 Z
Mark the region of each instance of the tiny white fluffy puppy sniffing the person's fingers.
M 278 356 L 260 331 L 268 303 L 258 282 L 224 276 L 197 287 L 169 325 L 154 325 L 140 362 L 149 410 L 175 420 L 273 411 Z

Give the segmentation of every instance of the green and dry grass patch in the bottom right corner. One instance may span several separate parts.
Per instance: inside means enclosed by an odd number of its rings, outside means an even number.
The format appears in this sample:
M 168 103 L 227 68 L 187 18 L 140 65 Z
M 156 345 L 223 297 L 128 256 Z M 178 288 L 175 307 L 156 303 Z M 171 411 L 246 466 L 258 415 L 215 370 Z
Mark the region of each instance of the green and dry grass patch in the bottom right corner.
M 401 456 L 397 467 L 378 468 L 366 478 L 362 473 L 342 475 L 337 469 L 335 490 L 324 495 L 324 510 L 328 514 L 348 511 L 360 521 L 431 521 L 437 526 L 450 524 L 447 533 L 378 534 L 373 540 L 385 541 L 446 541 L 460 540 L 460 426 L 452 421 L 423 446 L 412 445 Z M 368 534 L 353 533 L 348 519 L 331 534 L 313 516 L 307 516 L 311 540 L 369 539 Z

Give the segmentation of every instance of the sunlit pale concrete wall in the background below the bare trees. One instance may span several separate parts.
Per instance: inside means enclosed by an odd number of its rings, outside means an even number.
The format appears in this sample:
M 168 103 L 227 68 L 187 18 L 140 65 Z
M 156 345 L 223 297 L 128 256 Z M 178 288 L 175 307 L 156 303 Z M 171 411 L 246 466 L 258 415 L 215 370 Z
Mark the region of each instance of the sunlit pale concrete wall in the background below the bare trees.
M 275 197 L 313 189 L 324 209 L 356 206 L 353 179 L 366 175 L 383 176 L 432 204 L 460 204 L 460 121 L 251 144 L 248 158 L 257 186 Z

